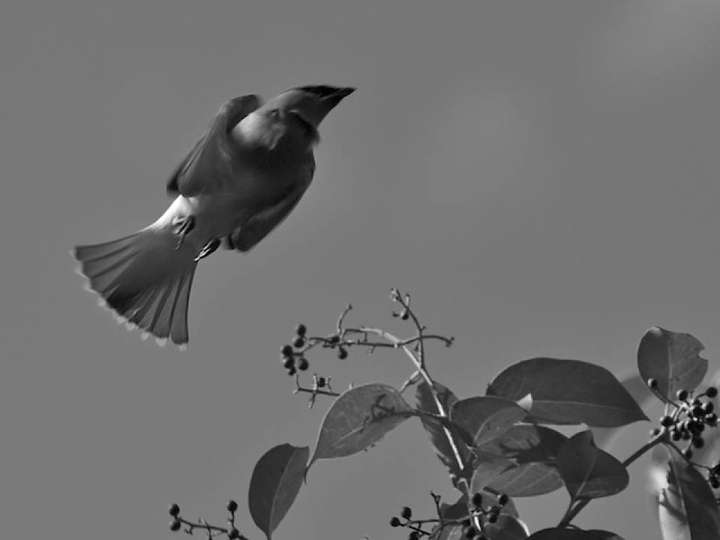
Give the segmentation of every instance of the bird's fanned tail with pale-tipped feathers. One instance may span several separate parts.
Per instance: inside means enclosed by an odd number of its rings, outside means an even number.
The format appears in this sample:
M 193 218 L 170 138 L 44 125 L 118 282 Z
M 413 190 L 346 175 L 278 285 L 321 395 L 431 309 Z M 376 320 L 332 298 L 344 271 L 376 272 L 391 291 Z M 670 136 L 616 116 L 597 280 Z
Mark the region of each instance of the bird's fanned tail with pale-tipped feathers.
M 178 248 L 168 227 L 73 250 L 79 272 L 128 328 L 139 327 L 163 345 L 188 341 L 187 312 L 197 261 L 192 246 Z

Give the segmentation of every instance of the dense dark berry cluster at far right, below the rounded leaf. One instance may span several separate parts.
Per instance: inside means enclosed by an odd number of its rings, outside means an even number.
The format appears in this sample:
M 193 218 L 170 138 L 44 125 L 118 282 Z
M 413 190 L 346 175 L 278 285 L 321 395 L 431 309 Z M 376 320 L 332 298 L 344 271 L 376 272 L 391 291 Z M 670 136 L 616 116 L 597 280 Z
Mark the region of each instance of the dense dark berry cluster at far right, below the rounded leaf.
M 651 390 L 655 390 L 658 383 L 655 379 L 647 381 Z M 683 455 L 687 459 L 693 456 L 693 449 L 705 446 L 703 432 L 706 427 L 716 427 L 718 416 L 715 413 L 715 404 L 712 399 L 718 395 L 718 390 L 710 386 L 705 392 L 693 397 L 687 390 L 678 390 L 675 394 L 677 402 L 675 410 L 660 418 L 660 428 L 652 431 L 652 436 L 667 433 L 673 442 L 687 441 Z M 703 399 L 707 398 L 707 399 Z

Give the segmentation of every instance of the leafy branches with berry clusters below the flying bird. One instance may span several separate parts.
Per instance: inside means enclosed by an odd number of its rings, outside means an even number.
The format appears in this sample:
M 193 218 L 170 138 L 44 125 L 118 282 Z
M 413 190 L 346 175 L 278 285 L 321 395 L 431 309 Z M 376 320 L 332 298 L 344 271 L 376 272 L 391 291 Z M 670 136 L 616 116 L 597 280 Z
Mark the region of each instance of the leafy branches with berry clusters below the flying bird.
M 620 461 L 598 448 L 593 434 L 582 426 L 617 428 L 648 418 L 627 388 L 607 369 L 588 362 L 558 358 L 530 358 L 498 374 L 486 395 L 459 399 L 437 382 L 428 369 L 425 345 L 446 346 L 453 338 L 431 334 L 411 308 L 409 295 L 397 290 L 391 299 L 395 317 L 409 321 L 414 335 L 397 337 L 386 330 L 345 325 L 350 306 L 327 336 L 309 336 L 305 325 L 296 328 L 292 344 L 282 347 L 283 367 L 296 381 L 295 392 L 318 399 L 332 398 L 314 445 L 281 444 L 270 449 L 255 466 L 248 504 L 258 528 L 271 539 L 318 461 L 351 456 L 367 450 L 399 424 L 417 417 L 450 480 L 458 490 L 454 502 L 430 492 L 433 513 L 417 518 L 405 507 L 390 519 L 403 528 L 409 540 L 622 540 L 611 531 L 582 530 L 573 520 L 593 499 L 624 490 L 630 480 L 627 468 L 652 451 L 660 471 L 656 486 L 658 523 L 665 540 L 705 540 L 720 537 L 720 456 L 693 461 L 693 453 L 715 446 L 718 417 L 714 412 L 717 389 L 699 391 L 708 371 L 700 357 L 703 345 L 690 334 L 654 327 L 640 340 L 638 372 L 665 414 L 650 440 Z M 312 376 L 304 386 L 301 372 L 310 365 L 315 349 L 334 351 L 339 359 L 358 348 L 387 348 L 402 352 L 412 370 L 400 388 L 371 383 L 335 392 L 329 377 Z M 636 378 L 630 381 L 635 381 Z M 415 387 L 410 403 L 405 392 Z M 578 426 L 566 436 L 550 426 Z M 309 459 L 308 459 L 309 458 Z M 513 503 L 516 497 L 533 497 L 565 488 L 567 511 L 557 526 L 531 533 Z M 172 531 L 230 540 L 245 536 L 235 525 L 237 503 L 230 501 L 228 526 L 205 520 L 189 521 L 178 505 L 170 507 Z

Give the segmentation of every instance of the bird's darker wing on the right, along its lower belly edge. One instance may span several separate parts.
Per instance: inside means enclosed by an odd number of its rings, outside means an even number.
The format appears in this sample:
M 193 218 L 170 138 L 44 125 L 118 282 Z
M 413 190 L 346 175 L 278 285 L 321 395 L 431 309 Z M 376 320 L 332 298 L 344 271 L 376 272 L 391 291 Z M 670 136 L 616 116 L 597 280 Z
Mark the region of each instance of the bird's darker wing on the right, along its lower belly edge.
M 225 249 L 236 249 L 237 251 L 249 251 L 260 240 L 265 238 L 270 231 L 280 225 L 290 214 L 298 201 L 302 198 L 312 181 L 315 172 L 315 160 L 311 158 L 301 168 L 298 181 L 290 190 L 273 204 L 261 208 L 247 222 L 235 229 L 223 239 Z

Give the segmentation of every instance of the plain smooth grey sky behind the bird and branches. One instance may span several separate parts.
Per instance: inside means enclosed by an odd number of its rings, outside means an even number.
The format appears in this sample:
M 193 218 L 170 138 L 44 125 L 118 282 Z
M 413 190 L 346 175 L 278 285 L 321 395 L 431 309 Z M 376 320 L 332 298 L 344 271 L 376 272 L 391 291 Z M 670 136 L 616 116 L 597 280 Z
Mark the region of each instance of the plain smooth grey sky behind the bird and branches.
M 5 2 L 0 17 L 0 535 L 166 538 L 167 505 L 261 534 L 255 461 L 312 445 L 327 402 L 292 396 L 298 321 L 409 332 L 464 397 L 551 355 L 635 366 L 651 325 L 720 350 L 720 4 L 715 0 Z M 167 174 L 220 104 L 328 83 L 314 184 L 251 254 L 203 261 L 185 353 L 142 342 L 82 291 L 68 251 L 154 220 Z M 311 358 L 337 388 L 409 373 L 400 355 Z M 616 448 L 647 440 L 637 424 Z M 642 464 L 579 523 L 658 537 Z M 409 421 L 318 463 L 277 538 L 404 538 L 402 505 L 453 496 Z M 562 492 L 524 502 L 556 523 Z

